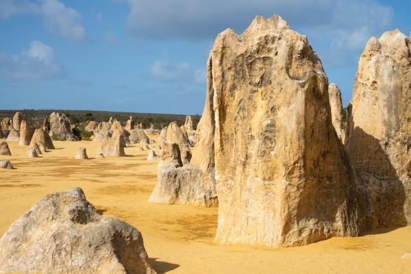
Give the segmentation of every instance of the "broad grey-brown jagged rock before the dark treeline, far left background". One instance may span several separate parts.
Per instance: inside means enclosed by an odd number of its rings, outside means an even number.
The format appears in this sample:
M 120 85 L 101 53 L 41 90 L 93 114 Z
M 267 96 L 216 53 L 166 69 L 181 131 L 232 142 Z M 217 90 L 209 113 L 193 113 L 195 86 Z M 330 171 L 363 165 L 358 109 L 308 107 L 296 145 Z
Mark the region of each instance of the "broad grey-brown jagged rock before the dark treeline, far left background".
M 71 131 L 69 118 L 64 113 L 51 113 L 49 117 L 50 130 L 49 135 L 53 140 L 60 141 L 77 141 L 78 138 Z

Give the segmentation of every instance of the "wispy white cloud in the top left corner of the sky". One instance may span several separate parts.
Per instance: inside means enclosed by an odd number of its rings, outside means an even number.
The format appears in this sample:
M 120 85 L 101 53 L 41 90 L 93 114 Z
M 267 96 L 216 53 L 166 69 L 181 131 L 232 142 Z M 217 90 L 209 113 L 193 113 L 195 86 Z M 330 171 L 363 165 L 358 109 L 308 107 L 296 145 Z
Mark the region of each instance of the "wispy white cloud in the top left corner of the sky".
M 82 16 L 58 0 L 0 0 L 0 18 L 16 14 L 38 14 L 49 32 L 66 39 L 84 42 L 87 38 L 81 23 Z

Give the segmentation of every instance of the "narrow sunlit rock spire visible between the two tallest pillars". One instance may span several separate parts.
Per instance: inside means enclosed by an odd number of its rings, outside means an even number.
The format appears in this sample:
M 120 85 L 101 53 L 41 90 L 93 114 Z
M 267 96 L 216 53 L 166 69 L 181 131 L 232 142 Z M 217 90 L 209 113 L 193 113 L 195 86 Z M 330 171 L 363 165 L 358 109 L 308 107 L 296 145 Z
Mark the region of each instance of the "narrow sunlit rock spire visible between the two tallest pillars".
M 338 138 L 343 142 L 345 132 L 343 130 L 343 101 L 341 100 L 340 88 L 334 83 L 328 86 L 329 106 L 331 107 L 332 125 L 336 129 Z

